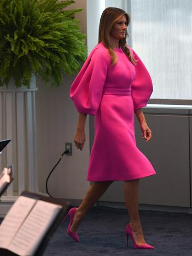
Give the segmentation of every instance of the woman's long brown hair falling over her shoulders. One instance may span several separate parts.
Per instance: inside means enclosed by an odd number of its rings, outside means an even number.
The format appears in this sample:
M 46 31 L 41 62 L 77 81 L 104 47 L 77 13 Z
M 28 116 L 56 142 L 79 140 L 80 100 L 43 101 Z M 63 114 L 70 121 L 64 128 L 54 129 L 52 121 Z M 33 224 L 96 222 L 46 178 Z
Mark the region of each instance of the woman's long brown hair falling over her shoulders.
M 113 50 L 111 41 L 110 41 L 110 33 L 111 29 L 113 27 L 113 24 L 121 18 L 121 16 L 125 15 L 127 26 L 130 24 L 131 18 L 130 15 L 127 14 L 124 10 L 120 8 L 115 7 L 108 7 L 104 9 L 101 18 L 100 18 L 100 24 L 99 24 L 99 43 L 103 42 L 104 46 L 109 50 L 109 54 L 111 56 L 111 66 L 115 64 L 117 61 L 117 56 Z M 126 30 L 126 36 L 129 37 L 129 34 Z M 119 40 L 119 47 L 122 48 L 123 52 L 127 56 L 127 58 L 130 59 L 130 61 L 133 63 L 133 65 L 136 65 L 136 61 L 131 52 L 130 49 L 126 47 L 126 36 L 123 39 Z

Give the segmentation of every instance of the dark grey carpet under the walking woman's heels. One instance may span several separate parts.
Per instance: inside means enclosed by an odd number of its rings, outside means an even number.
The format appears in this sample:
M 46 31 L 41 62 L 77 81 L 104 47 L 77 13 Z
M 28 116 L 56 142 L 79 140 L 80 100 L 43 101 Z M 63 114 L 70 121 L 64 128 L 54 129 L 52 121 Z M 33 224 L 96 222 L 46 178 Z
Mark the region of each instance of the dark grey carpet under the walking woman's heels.
M 134 249 L 131 239 L 126 248 L 125 227 L 129 222 L 124 209 L 93 207 L 78 229 L 80 243 L 67 234 L 69 218 L 58 227 L 45 256 L 115 255 L 192 255 L 192 216 L 167 212 L 140 211 L 145 241 L 153 250 Z

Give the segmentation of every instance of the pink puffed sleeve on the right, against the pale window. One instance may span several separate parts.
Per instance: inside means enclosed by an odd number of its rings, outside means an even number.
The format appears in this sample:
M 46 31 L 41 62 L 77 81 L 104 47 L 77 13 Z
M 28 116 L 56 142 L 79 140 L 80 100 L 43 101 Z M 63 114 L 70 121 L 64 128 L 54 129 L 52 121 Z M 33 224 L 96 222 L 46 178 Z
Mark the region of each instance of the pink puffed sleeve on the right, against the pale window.
M 153 92 L 153 83 L 146 67 L 135 51 L 131 49 L 134 59 L 138 60 L 135 67 L 135 79 L 131 86 L 131 94 L 134 104 L 134 110 L 141 109 L 147 105 Z

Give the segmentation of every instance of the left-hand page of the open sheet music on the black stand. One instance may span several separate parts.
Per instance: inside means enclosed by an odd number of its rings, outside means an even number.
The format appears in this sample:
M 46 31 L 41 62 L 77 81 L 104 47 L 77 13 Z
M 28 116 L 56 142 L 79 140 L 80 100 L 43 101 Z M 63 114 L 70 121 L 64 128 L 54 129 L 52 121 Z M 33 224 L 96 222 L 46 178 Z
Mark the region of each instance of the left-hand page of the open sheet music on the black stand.
M 15 204 L 8 211 L 6 218 L 0 226 L 0 247 L 6 248 L 15 236 L 16 232 L 22 226 L 30 210 L 36 203 L 36 199 L 20 196 Z

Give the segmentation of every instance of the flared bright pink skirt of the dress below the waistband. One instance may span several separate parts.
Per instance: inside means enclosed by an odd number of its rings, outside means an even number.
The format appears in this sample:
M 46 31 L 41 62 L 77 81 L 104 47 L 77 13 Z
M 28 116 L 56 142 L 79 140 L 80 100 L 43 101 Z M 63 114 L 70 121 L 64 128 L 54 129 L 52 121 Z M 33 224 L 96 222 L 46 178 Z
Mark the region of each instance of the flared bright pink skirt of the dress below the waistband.
M 87 180 L 132 180 L 156 174 L 136 146 L 131 95 L 102 95 L 94 133 Z

